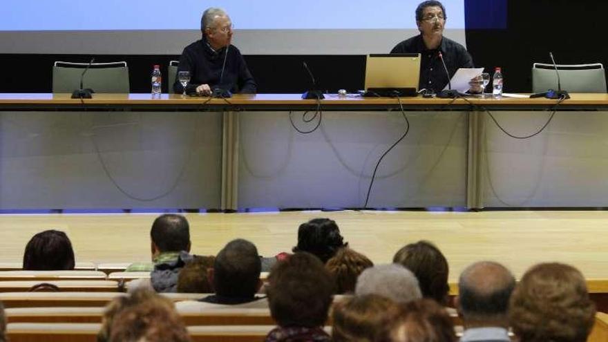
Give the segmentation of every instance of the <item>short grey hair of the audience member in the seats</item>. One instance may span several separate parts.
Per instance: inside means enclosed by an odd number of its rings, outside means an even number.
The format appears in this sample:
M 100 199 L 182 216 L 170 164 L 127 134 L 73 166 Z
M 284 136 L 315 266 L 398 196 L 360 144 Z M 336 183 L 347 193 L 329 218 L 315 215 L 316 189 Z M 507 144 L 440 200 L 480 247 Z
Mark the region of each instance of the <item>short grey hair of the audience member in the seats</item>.
M 403 304 L 422 298 L 416 276 L 397 264 L 365 269 L 357 278 L 354 294 L 379 294 Z

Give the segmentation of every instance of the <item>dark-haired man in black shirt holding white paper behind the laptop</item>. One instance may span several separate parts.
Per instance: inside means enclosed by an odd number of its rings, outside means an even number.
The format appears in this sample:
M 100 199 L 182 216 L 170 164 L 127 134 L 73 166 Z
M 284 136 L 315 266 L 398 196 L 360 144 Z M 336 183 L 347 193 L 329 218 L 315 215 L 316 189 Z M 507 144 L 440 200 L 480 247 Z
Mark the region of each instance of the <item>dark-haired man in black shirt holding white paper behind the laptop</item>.
M 459 68 L 474 68 L 473 59 L 464 46 L 444 37 L 446 19 L 446 9 L 439 1 L 420 3 L 416 8 L 416 23 L 420 35 L 401 41 L 390 51 L 390 53 L 421 54 L 419 88 L 426 88 L 433 93 L 443 90 L 449 78 Z M 446 62 L 449 78 L 439 53 Z M 478 83 L 471 86 L 479 88 Z

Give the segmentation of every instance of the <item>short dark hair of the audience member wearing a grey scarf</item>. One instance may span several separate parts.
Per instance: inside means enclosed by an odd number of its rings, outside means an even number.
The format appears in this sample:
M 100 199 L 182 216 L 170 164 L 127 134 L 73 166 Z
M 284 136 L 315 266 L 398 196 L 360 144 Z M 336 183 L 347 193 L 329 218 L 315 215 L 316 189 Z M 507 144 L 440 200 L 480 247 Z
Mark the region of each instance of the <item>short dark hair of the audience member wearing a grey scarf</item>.
M 190 226 L 181 215 L 158 216 L 150 229 L 152 242 L 160 251 L 185 251 L 190 243 Z

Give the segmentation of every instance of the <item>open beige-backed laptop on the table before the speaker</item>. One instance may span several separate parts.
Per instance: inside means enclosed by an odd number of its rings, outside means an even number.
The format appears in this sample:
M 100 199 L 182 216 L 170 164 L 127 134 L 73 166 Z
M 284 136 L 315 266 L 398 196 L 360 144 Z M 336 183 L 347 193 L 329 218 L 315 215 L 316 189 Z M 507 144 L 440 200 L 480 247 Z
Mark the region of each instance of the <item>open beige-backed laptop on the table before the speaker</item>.
M 419 79 L 419 53 L 370 54 L 364 96 L 417 96 Z

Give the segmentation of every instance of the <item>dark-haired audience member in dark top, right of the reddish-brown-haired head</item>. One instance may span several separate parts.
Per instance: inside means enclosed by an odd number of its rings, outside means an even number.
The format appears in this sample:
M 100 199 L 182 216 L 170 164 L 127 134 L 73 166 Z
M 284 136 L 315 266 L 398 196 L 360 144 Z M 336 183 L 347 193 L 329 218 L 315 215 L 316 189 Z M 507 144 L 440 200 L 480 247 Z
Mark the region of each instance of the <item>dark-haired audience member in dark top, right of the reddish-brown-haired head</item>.
M 263 296 L 256 296 L 262 286 L 260 281 L 258 249 L 247 240 L 230 241 L 216 256 L 213 269 L 207 276 L 215 294 L 199 301 L 183 301 L 176 304 L 178 310 L 203 310 L 208 307 L 268 307 Z

